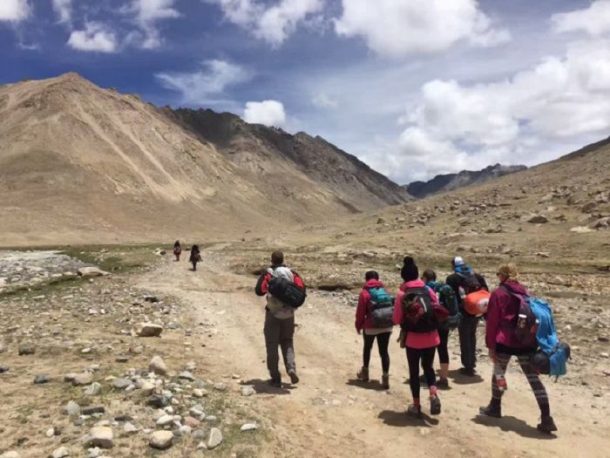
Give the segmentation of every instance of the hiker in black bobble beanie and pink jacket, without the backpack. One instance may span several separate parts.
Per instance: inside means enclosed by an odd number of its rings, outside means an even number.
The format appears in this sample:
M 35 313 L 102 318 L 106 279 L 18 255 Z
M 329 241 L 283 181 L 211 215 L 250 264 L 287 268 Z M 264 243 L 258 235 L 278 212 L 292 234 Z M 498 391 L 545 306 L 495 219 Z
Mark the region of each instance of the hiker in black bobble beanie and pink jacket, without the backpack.
M 400 286 L 398 294 L 394 302 L 394 324 L 400 325 L 404 330 L 405 316 L 403 299 L 408 294 L 409 290 L 414 288 L 425 288 L 430 295 L 430 299 L 434 304 L 438 304 L 436 293 L 428 288 L 425 283 L 419 278 L 419 270 L 412 257 L 407 256 L 403 261 L 403 266 L 400 275 L 404 283 Z M 401 333 L 402 339 L 403 333 Z M 430 394 L 430 413 L 438 415 L 441 413 L 441 401 L 438 397 L 438 389 L 436 387 L 436 376 L 434 374 L 434 354 L 436 347 L 441 340 L 438 335 L 438 329 L 431 329 L 424 332 L 409 330 L 404 337 L 404 346 L 407 352 L 407 361 L 409 363 L 409 386 L 413 395 L 413 404 L 407 409 L 409 415 L 419 417 L 421 415 L 420 403 L 420 383 L 419 383 L 419 365 L 424 370 L 426 383 L 428 384 Z

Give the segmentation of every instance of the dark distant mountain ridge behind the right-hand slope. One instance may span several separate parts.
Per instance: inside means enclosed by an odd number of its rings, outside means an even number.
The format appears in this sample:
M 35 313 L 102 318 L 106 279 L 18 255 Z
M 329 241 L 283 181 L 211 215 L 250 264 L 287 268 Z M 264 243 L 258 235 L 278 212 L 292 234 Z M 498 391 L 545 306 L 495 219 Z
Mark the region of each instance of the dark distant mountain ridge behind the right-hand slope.
M 485 181 L 526 169 L 527 167 L 524 165 L 495 164 L 485 167 L 483 170 L 463 170 L 459 173 L 437 175 L 429 181 L 414 181 L 404 186 L 404 188 L 410 195 L 423 198 L 432 194 L 453 191 L 464 186 L 484 183 Z

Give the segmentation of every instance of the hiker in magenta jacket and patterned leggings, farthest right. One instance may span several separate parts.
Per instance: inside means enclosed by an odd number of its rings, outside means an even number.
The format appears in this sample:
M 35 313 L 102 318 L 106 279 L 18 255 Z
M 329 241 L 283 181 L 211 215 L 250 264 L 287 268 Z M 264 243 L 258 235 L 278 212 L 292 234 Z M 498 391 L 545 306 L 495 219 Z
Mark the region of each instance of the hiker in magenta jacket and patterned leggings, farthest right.
M 510 358 L 516 356 L 540 408 L 541 422 L 538 430 L 545 433 L 557 431 L 551 417 L 546 389 L 531 364 L 531 358 L 538 347 L 536 332 L 522 332 L 527 329 L 525 324 L 528 315 L 524 313 L 522 298 L 528 296 L 528 292 L 517 281 L 517 268 L 514 264 L 501 266 L 497 276 L 500 286 L 491 294 L 485 329 L 485 342 L 489 357 L 494 363 L 491 401 L 487 407 L 481 407 L 480 413 L 497 418 L 502 416 L 502 395 L 508 388 L 505 379 L 506 367 Z

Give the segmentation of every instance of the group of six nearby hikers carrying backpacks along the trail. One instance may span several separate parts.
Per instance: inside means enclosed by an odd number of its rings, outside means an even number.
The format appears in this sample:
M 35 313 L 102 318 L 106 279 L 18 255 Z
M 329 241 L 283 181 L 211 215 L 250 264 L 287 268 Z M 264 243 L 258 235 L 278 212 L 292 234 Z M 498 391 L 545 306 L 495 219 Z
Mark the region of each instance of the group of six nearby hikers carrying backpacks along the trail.
M 369 381 L 371 350 L 377 341 L 382 366 L 381 385 L 384 389 L 389 388 L 388 346 L 393 327 L 399 326 L 398 341 L 406 351 L 413 398 L 407 414 L 422 416 L 420 366 L 428 387 L 430 414 L 440 414 L 439 390 L 449 388 L 449 335 L 453 329 L 458 330 L 462 363 L 459 372 L 465 377 L 476 376 L 476 331 L 484 316 L 485 343 L 493 362 L 493 375 L 491 400 L 480 408 L 479 413 L 496 418 L 502 416 L 501 400 L 507 390 L 505 373 L 511 357 L 515 356 L 540 408 L 541 422 L 537 429 L 544 433 L 556 431 L 548 396 L 539 377 L 541 363 L 536 359 L 543 356 L 547 364 L 547 372 L 543 373 L 549 373 L 549 358 L 541 354 L 536 334 L 538 326 L 546 326 L 545 331 L 549 336 L 554 333 L 550 310 L 548 323 L 540 323 L 533 316 L 529 304 L 532 307 L 538 304 L 529 300 L 529 293 L 518 281 L 517 268 L 512 263 L 498 268 L 496 275 L 499 286 L 492 292 L 489 292 L 485 278 L 474 272 L 462 257 L 453 258 L 451 267 L 452 273 L 442 283 L 437 281 L 432 269 L 425 270 L 420 277 L 415 260 L 410 256 L 405 257 L 400 270 L 403 283 L 395 297 L 385 289 L 378 272 L 370 270 L 365 273 L 355 320 L 357 332 L 363 335 L 363 361 L 357 373 L 358 380 L 362 383 Z M 267 368 L 271 376 L 269 383 L 273 387 L 282 386 L 279 347 L 290 381 L 296 384 L 299 377 L 293 344 L 295 310 L 305 300 L 304 281 L 284 264 L 283 253 L 275 251 L 271 255 L 271 265 L 258 278 L 255 292 L 258 296 L 266 296 L 264 335 Z M 551 342 L 552 339 L 549 339 L 549 345 L 553 348 L 548 353 L 562 353 L 565 359 L 564 349 L 558 351 L 560 345 L 556 341 L 556 334 L 551 337 L 555 340 Z M 433 368 L 437 352 L 440 360 L 438 379 Z M 555 353 L 552 358 L 557 356 Z

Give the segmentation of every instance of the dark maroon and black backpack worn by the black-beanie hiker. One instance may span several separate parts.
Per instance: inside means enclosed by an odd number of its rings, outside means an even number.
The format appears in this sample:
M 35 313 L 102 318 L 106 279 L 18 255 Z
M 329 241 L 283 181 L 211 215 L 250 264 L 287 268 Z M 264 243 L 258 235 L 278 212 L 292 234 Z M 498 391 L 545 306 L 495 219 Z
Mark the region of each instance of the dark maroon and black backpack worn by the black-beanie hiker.
M 439 328 L 449 312 L 432 302 L 427 287 L 408 288 L 402 299 L 403 323 L 407 331 L 431 332 Z

